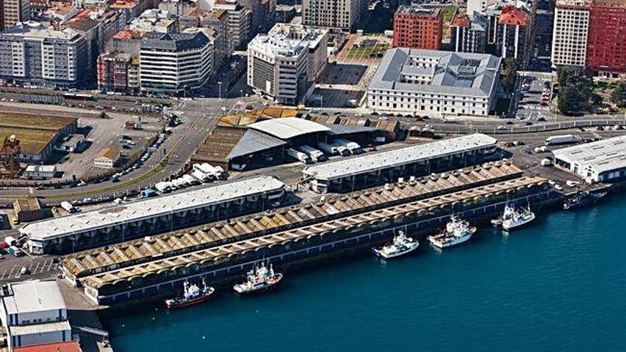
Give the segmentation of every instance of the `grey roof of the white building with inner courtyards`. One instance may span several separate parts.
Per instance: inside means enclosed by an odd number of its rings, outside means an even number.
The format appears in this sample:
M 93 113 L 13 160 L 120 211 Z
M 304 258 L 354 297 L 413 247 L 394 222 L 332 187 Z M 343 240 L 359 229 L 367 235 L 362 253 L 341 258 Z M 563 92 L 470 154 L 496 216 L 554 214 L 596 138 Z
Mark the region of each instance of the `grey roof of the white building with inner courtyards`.
M 489 97 L 499 84 L 496 77 L 501 62 L 500 58 L 489 54 L 393 48 L 383 56 L 368 90 Z M 405 82 L 405 77 L 410 76 L 428 77 L 430 82 Z

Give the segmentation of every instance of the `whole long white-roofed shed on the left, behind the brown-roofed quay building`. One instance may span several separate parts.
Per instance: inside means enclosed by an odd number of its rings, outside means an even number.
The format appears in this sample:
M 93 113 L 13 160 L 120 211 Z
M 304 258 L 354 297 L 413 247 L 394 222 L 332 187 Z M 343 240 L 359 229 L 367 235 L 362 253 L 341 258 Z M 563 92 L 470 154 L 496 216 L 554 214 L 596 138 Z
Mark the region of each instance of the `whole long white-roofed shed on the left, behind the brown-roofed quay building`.
M 279 206 L 285 183 L 258 176 L 23 226 L 28 250 L 68 253 Z

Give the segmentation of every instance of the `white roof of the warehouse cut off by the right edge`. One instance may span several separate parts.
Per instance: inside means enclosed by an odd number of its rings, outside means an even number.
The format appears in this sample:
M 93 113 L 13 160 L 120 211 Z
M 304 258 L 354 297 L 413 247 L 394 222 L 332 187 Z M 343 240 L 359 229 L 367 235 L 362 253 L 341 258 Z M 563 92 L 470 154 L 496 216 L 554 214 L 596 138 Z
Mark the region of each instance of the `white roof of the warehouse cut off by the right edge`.
M 569 146 L 553 151 L 556 159 L 578 164 L 580 169 L 592 169 L 598 174 L 626 168 L 626 136 Z

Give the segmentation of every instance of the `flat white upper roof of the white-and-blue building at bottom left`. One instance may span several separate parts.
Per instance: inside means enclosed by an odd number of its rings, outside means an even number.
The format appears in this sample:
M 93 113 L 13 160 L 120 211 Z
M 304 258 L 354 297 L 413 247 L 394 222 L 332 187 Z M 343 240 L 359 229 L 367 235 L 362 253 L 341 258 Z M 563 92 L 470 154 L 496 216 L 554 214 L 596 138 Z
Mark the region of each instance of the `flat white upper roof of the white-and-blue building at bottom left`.
M 9 284 L 13 294 L 2 297 L 7 314 L 67 309 L 55 280 L 33 280 Z

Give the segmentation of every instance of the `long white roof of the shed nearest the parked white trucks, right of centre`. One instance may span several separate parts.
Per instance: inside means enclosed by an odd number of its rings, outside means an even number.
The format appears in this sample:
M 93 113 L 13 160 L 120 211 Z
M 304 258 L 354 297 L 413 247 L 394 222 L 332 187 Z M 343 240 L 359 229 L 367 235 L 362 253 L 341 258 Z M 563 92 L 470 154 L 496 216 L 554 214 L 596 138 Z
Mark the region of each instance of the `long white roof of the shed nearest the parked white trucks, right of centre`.
M 329 180 L 411 164 L 420 160 L 435 159 L 460 151 L 495 146 L 496 143 L 497 139 L 489 137 L 487 134 L 474 133 L 427 144 L 381 151 L 376 154 L 365 154 L 351 159 L 341 159 L 331 163 L 307 166 L 302 172 L 317 179 Z

